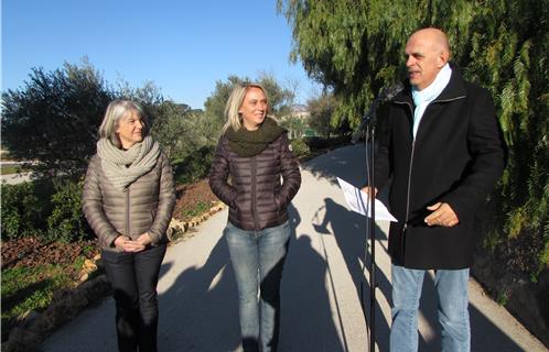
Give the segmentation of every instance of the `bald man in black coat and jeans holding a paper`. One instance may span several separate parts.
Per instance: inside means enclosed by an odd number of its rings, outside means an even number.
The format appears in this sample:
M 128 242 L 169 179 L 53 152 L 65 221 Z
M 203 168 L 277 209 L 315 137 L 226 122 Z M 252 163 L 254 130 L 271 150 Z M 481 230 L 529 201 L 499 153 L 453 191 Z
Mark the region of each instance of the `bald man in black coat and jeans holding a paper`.
M 488 91 L 465 81 L 449 63 L 442 31 L 413 33 L 406 56 L 408 79 L 389 107 L 375 165 L 375 193 L 392 178 L 389 204 L 398 219 L 389 230 L 390 351 L 418 350 L 428 270 L 435 272 L 442 351 L 470 351 L 475 211 L 503 172 L 505 142 Z

